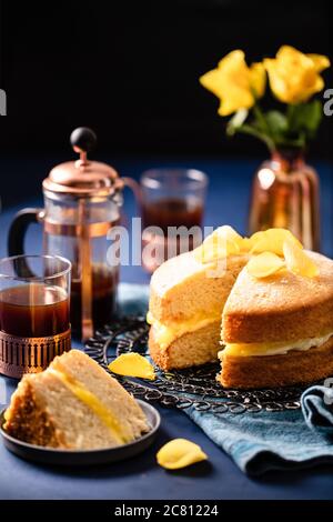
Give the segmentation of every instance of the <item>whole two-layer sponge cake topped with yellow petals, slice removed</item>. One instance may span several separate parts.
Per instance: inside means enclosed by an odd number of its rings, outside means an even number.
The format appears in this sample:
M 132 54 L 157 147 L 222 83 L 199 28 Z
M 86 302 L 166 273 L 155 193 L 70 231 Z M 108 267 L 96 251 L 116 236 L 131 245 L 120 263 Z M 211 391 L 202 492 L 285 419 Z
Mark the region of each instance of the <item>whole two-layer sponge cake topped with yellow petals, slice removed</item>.
M 219 357 L 224 387 L 312 382 L 333 374 L 333 261 L 287 230 L 246 239 L 222 227 L 154 272 L 148 321 L 164 370 Z

